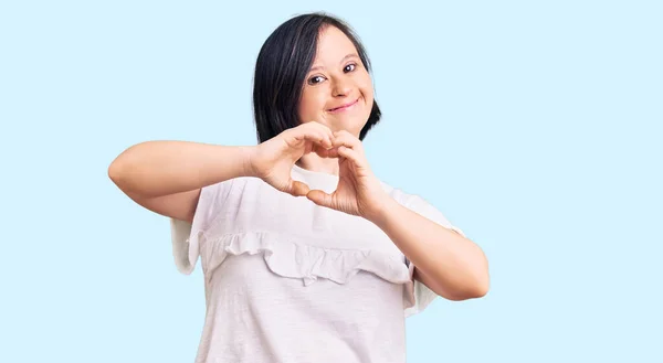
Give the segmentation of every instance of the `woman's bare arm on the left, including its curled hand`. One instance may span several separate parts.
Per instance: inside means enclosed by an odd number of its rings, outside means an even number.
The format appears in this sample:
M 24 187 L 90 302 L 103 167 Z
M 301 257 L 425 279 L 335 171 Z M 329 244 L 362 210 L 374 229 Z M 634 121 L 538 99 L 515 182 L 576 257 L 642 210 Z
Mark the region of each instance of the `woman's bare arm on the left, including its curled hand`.
M 146 141 L 120 153 L 108 177 L 146 209 L 192 222 L 201 188 L 239 177 L 261 178 L 280 191 L 306 195 L 308 186 L 291 178 L 293 164 L 305 152 L 322 152 L 332 136 L 327 126 L 305 122 L 250 147 Z

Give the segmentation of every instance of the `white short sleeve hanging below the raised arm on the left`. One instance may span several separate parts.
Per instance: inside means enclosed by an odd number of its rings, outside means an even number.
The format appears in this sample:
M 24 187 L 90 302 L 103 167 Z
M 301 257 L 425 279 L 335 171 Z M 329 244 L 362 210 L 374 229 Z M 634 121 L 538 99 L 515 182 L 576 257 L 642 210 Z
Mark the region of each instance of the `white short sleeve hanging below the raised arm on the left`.
M 200 191 L 192 223 L 170 218 L 172 256 L 178 271 L 190 275 L 199 257 L 199 243 L 219 213 L 220 195 L 227 182 L 203 186 Z

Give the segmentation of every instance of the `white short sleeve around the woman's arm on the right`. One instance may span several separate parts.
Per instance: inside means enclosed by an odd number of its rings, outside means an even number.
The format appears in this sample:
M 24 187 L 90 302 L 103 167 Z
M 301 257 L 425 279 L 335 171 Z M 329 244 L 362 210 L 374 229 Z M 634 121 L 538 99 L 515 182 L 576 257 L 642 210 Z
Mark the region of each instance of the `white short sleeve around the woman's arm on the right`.
M 428 203 L 421 196 L 410 195 L 406 202 L 406 206 L 411 211 L 414 211 L 422 216 L 440 224 L 441 226 L 452 229 L 461 236 L 466 237 L 463 231 L 452 225 L 438 209 Z M 406 310 L 406 317 L 409 317 L 423 311 L 431 302 L 433 302 L 438 295 L 428 286 L 414 279 L 414 264 L 411 264 L 410 260 L 406 258 L 406 265 L 408 266 L 410 279 L 412 280 L 412 290 L 410 291 L 412 296 L 410 298 L 413 300 L 413 306 Z

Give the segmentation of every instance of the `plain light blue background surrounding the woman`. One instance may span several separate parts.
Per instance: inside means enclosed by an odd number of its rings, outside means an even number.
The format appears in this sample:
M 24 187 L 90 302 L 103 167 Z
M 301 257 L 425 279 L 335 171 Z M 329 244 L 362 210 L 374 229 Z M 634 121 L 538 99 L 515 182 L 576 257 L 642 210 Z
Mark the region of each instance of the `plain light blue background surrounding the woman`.
M 0 361 L 193 361 L 200 265 L 107 167 L 253 145 L 259 49 L 314 10 L 373 62 L 375 172 L 490 258 L 488 296 L 408 319 L 408 361 L 662 362 L 660 1 L 3 1 Z

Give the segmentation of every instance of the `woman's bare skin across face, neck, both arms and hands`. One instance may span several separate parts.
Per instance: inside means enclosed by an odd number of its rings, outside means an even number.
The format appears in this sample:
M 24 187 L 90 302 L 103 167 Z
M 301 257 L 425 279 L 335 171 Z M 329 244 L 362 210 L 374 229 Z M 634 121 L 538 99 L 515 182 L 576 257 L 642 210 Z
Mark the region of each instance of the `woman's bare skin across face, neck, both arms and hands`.
M 314 68 L 303 85 L 303 122 L 297 127 L 252 147 L 143 142 L 118 156 L 108 175 L 138 204 L 189 223 L 202 186 L 238 177 L 261 178 L 282 192 L 372 222 L 415 266 L 414 279 L 438 295 L 450 300 L 484 296 L 488 266 L 481 248 L 396 202 L 370 170 L 359 132 L 368 121 L 373 90 L 356 54 L 338 29 L 320 32 Z M 354 100 L 352 107 L 334 110 Z M 336 191 L 327 194 L 293 181 L 295 163 L 338 175 Z

